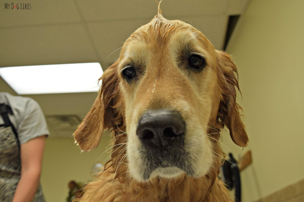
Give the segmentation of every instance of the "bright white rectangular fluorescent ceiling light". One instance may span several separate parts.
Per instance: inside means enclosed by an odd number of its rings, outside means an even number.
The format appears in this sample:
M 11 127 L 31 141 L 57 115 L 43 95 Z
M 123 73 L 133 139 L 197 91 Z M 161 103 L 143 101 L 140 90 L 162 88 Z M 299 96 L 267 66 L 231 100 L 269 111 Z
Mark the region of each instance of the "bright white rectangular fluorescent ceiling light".
M 0 76 L 19 95 L 98 91 L 98 62 L 2 67 Z

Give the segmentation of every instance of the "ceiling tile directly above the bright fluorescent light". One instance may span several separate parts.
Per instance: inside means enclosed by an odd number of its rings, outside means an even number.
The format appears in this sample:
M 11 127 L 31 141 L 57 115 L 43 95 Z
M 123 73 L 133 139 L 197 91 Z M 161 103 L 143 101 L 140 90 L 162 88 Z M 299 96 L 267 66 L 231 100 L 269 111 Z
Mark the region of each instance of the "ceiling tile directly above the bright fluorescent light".
M 96 62 L 82 24 L 0 29 L 0 67 Z

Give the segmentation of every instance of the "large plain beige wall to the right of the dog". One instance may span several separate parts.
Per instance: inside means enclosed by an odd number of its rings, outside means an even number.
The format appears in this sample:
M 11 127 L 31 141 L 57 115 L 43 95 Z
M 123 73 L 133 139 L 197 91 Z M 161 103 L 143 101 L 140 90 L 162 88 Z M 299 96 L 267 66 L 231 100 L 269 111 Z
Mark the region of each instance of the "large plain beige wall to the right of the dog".
M 239 69 L 253 154 L 241 176 L 245 202 L 304 178 L 303 9 L 299 0 L 251 0 L 226 49 Z M 223 138 L 236 155 L 243 152 Z

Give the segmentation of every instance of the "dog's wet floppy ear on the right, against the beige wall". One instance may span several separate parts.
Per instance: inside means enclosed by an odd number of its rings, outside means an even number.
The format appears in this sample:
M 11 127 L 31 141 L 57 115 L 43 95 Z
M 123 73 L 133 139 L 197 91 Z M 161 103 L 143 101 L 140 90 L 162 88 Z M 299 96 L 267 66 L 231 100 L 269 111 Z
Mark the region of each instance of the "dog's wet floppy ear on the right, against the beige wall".
M 242 108 L 236 103 L 237 91 L 240 90 L 238 84 L 237 67 L 231 60 L 229 54 L 223 51 L 216 51 L 218 76 L 222 97 L 219 103 L 217 114 L 217 125 L 224 124 L 230 131 L 233 142 L 241 147 L 245 147 L 248 142 L 245 126 L 241 119 Z

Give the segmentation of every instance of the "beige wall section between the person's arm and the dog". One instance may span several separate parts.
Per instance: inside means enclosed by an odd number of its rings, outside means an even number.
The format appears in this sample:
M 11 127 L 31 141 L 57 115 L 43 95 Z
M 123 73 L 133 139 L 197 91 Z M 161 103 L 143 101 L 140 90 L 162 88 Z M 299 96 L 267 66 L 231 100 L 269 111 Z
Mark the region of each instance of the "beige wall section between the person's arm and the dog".
M 99 146 L 90 152 L 80 152 L 73 138 L 48 137 L 43 158 L 41 184 L 47 202 L 64 202 L 70 180 L 88 182 L 92 166 L 105 161 L 109 155 L 101 154 L 109 144 L 109 136 L 103 136 Z M 111 149 L 109 149 L 110 151 Z M 111 150 L 112 151 L 112 150 Z

